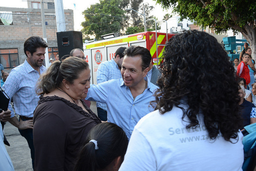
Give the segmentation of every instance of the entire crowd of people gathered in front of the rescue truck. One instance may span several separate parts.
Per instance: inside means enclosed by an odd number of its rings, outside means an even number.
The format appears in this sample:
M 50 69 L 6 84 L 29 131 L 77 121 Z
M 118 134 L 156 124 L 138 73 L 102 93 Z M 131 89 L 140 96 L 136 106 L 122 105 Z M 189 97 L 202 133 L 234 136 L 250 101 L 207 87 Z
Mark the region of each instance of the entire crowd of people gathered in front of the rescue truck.
M 256 122 L 248 47 L 233 66 L 214 37 L 184 31 L 159 68 L 148 49 L 120 47 L 98 67 L 97 85 L 82 50 L 46 69 L 46 47 L 41 37 L 25 41 L 27 59 L 3 84 L 20 117 L 11 105 L 0 113 L 27 140 L 35 171 L 242 171 L 240 130 Z M 0 169 L 13 171 L 0 147 Z

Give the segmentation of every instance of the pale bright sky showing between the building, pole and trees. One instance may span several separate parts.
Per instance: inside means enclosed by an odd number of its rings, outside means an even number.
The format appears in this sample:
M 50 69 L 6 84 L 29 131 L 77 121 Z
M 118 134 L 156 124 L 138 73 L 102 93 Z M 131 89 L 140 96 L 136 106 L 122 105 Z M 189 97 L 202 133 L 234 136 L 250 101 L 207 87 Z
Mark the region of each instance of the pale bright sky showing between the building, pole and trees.
M 88 3 L 89 0 L 63 0 L 63 8 L 74 10 L 74 30 L 81 31 L 82 26 L 81 23 L 84 20 L 84 16 L 82 12 L 86 10 L 90 5 L 98 3 L 99 0 L 92 1 L 93 3 Z M 54 2 L 54 0 L 53 0 Z M 166 13 L 171 13 L 171 10 L 166 11 L 161 8 L 160 5 L 156 5 L 156 2 L 153 0 L 144 0 L 144 3 L 148 2 L 149 5 L 154 6 L 154 10 L 150 13 L 150 15 L 156 16 L 158 20 L 162 20 L 163 16 Z M 75 4 L 75 6 L 74 6 Z M 0 6 L 3 7 L 13 7 L 13 8 L 28 8 L 28 3 L 25 0 L 5 0 L 0 3 Z M 158 11 L 156 13 L 156 11 Z

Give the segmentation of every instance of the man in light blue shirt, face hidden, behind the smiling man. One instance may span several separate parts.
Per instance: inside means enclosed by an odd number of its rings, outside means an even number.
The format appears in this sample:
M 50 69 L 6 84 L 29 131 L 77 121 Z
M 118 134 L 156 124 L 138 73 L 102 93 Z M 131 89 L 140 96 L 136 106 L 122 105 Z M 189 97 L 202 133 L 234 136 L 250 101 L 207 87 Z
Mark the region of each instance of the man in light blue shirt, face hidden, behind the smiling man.
M 122 78 L 121 76 L 121 67 L 123 63 L 123 52 L 126 47 L 119 47 L 115 52 L 115 58 L 110 61 L 105 61 L 98 66 L 97 70 L 97 84 L 100 84 L 105 81 L 112 79 Z M 107 121 L 107 105 L 105 103 L 97 102 L 97 113 L 98 117 L 102 121 Z

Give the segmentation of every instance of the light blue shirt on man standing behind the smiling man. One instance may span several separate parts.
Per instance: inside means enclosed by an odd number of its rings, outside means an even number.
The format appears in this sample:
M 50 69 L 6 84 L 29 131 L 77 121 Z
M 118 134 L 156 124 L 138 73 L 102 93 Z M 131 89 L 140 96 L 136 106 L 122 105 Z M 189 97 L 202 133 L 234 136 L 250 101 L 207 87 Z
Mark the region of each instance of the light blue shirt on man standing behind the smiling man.
M 119 78 L 122 78 L 121 71 L 113 59 L 101 63 L 97 69 L 97 84 Z M 96 105 L 107 111 L 107 105 L 105 103 L 97 102 Z

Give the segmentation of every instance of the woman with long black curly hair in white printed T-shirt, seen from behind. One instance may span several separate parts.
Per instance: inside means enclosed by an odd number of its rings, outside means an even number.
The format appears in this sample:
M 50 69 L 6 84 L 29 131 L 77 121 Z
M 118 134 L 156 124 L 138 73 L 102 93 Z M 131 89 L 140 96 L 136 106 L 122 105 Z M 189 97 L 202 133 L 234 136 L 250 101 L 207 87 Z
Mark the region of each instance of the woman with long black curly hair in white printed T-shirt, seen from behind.
M 135 126 L 119 171 L 242 171 L 239 87 L 222 46 L 205 32 L 175 35 L 161 72 L 157 110 Z

